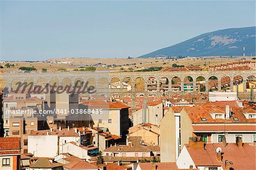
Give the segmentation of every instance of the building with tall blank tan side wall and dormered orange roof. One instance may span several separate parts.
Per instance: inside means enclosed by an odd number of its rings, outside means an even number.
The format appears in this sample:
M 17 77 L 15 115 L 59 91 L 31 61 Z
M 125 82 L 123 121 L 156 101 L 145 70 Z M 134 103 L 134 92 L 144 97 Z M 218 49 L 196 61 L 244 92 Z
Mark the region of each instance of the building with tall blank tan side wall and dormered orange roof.
M 175 161 L 189 137 L 200 137 L 206 143 L 256 142 L 255 103 L 237 101 L 208 102 L 201 106 L 173 106 L 160 123 L 161 161 Z

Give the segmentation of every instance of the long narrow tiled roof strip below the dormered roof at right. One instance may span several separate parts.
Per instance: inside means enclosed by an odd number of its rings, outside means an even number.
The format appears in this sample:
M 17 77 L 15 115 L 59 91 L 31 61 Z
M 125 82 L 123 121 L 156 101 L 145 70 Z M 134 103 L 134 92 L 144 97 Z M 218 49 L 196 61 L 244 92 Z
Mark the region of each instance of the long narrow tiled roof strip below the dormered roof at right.
M 194 131 L 254 131 L 256 125 L 192 125 Z

